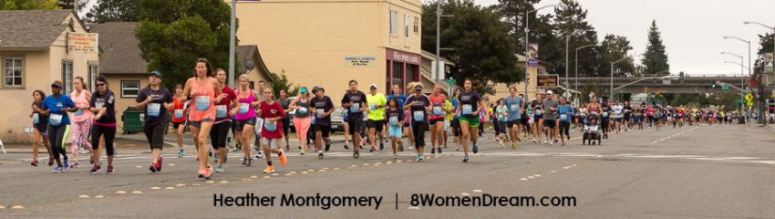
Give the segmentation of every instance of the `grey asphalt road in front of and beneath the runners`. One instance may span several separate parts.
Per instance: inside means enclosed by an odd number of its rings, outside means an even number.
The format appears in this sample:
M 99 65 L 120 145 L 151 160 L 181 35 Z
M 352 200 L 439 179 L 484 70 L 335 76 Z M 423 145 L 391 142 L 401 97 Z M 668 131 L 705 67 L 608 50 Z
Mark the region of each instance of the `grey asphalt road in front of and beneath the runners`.
M 526 143 L 501 149 L 491 138 L 471 162 L 454 145 L 426 162 L 409 152 L 363 151 L 354 160 L 341 144 L 324 160 L 290 152 L 261 173 L 233 153 L 212 182 L 196 178 L 191 155 L 165 151 L 150 173 L 147 151 L 119 151 L 116 173 L 31 167 L 29 153 L 0 155 L 0 218 L 773 218 L 775 132 L 746 125 L 638 130 L 611 134 L 603 145 Z M 572 136 L 578 136 L 573 132 Z M 295 151 L 295 150 L 294 150 Z M 84 156 L 85 157 L 85 156 Z M 273 158 L 275 163 L 276 157 Z M 86 160 L 81 163 L 88 163 Z M 290 175 L 286 175 L 289 172 Z M 268 178 L 264 178 L 267 177 Z M 126 193 L 120 193 L 126 192 Z M 133 193 L 135 192 L 135 193 Z M 136 193 L 140 192 L 140 193 Z M 276 196 L 274 206 L 213 206 L 213 195 Z M 371 206 L 280 206 L 282 195 L 377 196 Z M 398 193 L 398 200 L 396 195 Z M 415 206 L 412 194 L 455 197 L 573 197 L 571 206 Z M 82 196 L 83 195 L 83 196 Z M 101 196 L 99 196 L 101 195 Z M 398 201 L 398 202 L 397 202 Z M 12 209 L 13 206 L 23 209 Z

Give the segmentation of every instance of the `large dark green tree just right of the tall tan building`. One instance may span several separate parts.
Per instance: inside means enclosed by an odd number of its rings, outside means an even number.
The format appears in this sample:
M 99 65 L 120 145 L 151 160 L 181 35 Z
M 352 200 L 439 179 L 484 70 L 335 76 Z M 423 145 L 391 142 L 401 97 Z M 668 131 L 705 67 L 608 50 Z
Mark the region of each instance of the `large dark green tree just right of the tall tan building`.
M 492 8 L 482 8 L 471 0 L 440 2 L 445 13 L 455 15 L 443 19 L 441 45 L 454 50 L 441 55 L 455 63 L 450 78 L 463 78 L 512 84 L 522 80 L 524 72 L 517 68 L 510 26 Z M 422 48 L 436 50 L 436 5 L 423 5 Z M 482 93 L 494 93 L 489 86 L 478 88 Z

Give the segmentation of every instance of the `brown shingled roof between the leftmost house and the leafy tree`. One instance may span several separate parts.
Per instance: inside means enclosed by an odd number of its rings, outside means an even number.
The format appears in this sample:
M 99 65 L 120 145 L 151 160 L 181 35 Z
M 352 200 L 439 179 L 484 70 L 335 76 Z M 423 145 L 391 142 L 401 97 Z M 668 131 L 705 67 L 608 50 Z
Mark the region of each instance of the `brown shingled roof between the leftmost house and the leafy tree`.
M 134 29 L 139 22 L 108 22 L 91 26 L 92 33 L 99 34 L 100 74 L 146 74 L 148 62 L 140 57 L 140 40 Z

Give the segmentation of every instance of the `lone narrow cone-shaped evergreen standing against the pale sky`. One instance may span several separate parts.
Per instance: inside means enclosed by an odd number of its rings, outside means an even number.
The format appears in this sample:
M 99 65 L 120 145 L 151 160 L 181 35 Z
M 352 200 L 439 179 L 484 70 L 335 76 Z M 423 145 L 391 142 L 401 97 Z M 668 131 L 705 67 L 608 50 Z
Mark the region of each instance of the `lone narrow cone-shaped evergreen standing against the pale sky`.
M 666 48 L 662 44 L 662 36 L 656 27 L 656 20 L 651 22 L 651 27 L 648 29 L 648 44 L 641 63 L 646 67 L 643 73 L 647 75 L 670 69 L 670 64 L 667 64 Z

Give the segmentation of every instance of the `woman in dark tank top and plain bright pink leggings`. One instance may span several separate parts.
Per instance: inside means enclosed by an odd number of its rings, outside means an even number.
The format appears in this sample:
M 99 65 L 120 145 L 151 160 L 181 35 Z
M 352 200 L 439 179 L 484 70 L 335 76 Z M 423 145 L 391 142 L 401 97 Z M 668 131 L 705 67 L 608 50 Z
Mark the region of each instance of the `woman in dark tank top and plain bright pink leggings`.
M 280 98 L 283 97 L 283 93 L 281 91 Z M 280 104 L 283 105 L 282 103 Z M 285 112 L 288 112 L 288 110 L 295 110 L 294 112 L 294 129 L 296 130 L 296 137 L 301 142 L 301 145 L 299 145 L 299 149 L 301 150 L 301 154 L 305 154 L 305 149 L 309 148 L 309 145 L 307 144 L 307 138 L 306 138 L 306 132 L 309 130 L 310 127 L 310 98 L 309 95 L 307 95 L 307 89 L 306 87 L 302 87 L 302 89 L 299 89 L 299 96 L 296 97 L 294 100 L 291 101 L 290 105 L 285 106 L 283 109 L 287 109 Z M 283 120 L 285 122 L 285 119 Z M 287 124 L 287 123 L 283 123 Z M 287 134 L 285 134 L 287 137 Z M 315 145 L 317 146 L 317 145 Z M 285 147 L 285 150 L 290 150 L 289 147 Z

